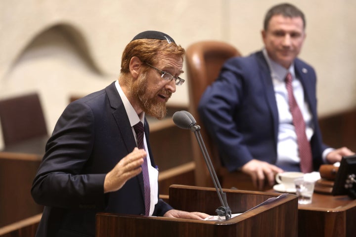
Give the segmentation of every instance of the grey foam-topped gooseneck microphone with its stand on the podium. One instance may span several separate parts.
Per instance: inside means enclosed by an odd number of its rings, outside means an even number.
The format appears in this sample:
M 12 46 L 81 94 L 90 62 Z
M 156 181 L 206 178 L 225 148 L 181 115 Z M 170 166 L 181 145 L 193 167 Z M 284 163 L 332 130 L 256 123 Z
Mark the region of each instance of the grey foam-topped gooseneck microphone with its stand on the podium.
M 210 176 L 213 180 L 215 189 L 218 193 L 220 203 L 222 204 L 221 207 L 218 207 L 218 209 L 216 209 L 216 212 L 217 212 L 218 216 L 224 216 L 225 220 L 231 219 L 231 209 L 227 204 L 226 194 L 223 192 L 223 189 L 220 185 L 218 176 L 216 175 L 216 172 L 214 170 L 213 163 L 209 157 L 205 143 L 201 136 L 200 126 L 196 125 L 195 118 L 187 111 L 177 111 L 176 113 L 174 113 L 173 121 L 178 127 L 183 128 L 183 129 L 189 129 L 192 132 L 194 132 L 195 137 L 198 141 L 200 150 L 203 153 L 203 157 L 204 157 L 205 163 L 208 167 Z

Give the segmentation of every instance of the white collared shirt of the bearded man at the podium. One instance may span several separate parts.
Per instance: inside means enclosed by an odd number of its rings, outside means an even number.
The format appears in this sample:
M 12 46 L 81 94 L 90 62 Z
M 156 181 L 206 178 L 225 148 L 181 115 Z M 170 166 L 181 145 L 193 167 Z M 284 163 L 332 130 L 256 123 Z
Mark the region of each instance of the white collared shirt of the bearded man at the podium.
M 124 91 L 122 90 L 119 81 L 115 81 L 115 86 L 117 91 L 119 92 L 119 95 L 121 97 L 121 100 L 123 101 L 126 113 L 129 117 L 131 128 L 134 133 L 134 137 L 136 140 L 136 145 L 137 145 L 137 136 L 136 132 L 134 131 L 134 125 L 141 121 L 144 124 L 144 112 L 141 115 L 141 118 L 138 117 L 137 113 L 134 110 L 134 107 L 130 104 L 130 101 L 126 97 Z M 146 142 L 146 135 L 143 134 L 143 143 L 145 148 L 147 148 L 147 142 Z M 149 180 L 150 180 L 150 188 L 151 188 L 151 206 L 150 206 L 150 212 L 149 215 L 151 216 L 154 210 L 155 205 L 158 202 L 158 170 L 151 165 L 151 159 L 149 157 L 148 150 L 145 149 L 147 152 L 147 165 L 148 165 L 148 175 L 149 175 Z

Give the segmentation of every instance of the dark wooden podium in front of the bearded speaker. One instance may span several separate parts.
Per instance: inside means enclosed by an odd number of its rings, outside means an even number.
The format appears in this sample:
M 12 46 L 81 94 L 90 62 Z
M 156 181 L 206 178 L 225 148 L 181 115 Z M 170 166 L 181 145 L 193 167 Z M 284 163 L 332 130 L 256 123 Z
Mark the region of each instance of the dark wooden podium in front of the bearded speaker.
M 280 194 L 223 190 L 232 213 L 243 214 L 228 221 L 199 221 L 166 217 L 98 213 L 96 237 L 232 237 L 232 236 L 298 236 L 298 198 L 292 194 L 251 208 Z M 176 209 L 216 215 L 221 206 L 214 188 L 184 185 L 170 186 L 169 203 Z

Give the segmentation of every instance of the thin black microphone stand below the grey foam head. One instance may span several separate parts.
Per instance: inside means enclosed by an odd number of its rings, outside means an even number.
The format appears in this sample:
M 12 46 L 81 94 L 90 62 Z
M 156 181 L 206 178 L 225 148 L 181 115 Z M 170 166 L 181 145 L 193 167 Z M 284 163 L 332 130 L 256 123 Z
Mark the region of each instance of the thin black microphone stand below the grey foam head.
M 216 212 L 217 212 L 218 216 L 220 216 L 220 217 L 224 216 L 225 220 L 229 220 L 229 219 L 231 219 L 231 209 L 227 204 L 226 194 L 223 192 L 223 189 L 222 189 L 222 187 L 220 185 L 218 176 L 217 176 L 217 174 L 216 174 L 216 172 L 214 170 L 213 163 L 212 163 L 212 161 L 211 161 L 211 159 L 209 157 L 208 151 L 207 151 L 205 143 L 203 141 L 203 138 L 202 138 L 202 135 L 201 135 L 201 132 L 200 132 L 200 126 L 199 125 L 193 125 L 193 126 L 190 127 L 190 130 L 192 132 L 194 132 L 194 135 L 195 135 L 195 137 L 196 137 L 196 139 L 198 141 L 200 150 L 203 153 L 203 157 L 204 157 L 205 163 L 208 166 L 208 170 L 209 170 L 210 176 L 213 179 L 213 183 L 214 183 L 215 189 L 216 189 L 216 191 L 218 193 L 218 197 L 219 197 L 220 203 L 222 204 L 221 207 L 218 207 L 218 209 L 216 209 Z

